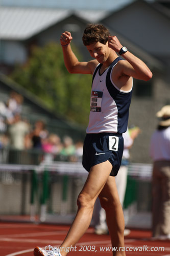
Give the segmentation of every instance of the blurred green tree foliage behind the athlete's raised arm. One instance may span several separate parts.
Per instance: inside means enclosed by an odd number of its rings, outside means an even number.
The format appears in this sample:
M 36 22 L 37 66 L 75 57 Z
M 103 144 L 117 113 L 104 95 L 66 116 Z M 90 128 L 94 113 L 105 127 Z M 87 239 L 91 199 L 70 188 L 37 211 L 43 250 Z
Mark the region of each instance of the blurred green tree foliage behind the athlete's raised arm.
M 77 49 L 74 52 L 80 59 Z M 57 114 L 87 125 L 91 75 L 69 74 L 60 45 L 34 47 L 28 62 L 16 66 L 11 77 Z

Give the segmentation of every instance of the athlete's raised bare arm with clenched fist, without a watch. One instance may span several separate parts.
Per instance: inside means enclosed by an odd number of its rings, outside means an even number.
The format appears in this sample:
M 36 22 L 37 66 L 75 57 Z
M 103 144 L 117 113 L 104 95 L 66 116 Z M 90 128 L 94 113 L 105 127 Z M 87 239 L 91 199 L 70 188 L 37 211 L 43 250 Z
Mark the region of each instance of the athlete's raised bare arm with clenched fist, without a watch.
M 90 60 L 88 62 L 80 62 L 71 49 L 70 42 L 72 40 L 71 33 L 65 31 L 60 37 L 63 50 L 64 63 L 69 73 L 93 74 L 98 61 Z

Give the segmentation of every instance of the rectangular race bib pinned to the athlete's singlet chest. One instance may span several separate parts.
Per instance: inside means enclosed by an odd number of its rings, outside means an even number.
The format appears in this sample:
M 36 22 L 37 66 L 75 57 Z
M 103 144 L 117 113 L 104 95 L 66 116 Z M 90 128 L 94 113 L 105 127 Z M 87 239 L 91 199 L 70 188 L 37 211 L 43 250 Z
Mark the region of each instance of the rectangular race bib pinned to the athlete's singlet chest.
M 90 100 L 90 111 L 101 112 L 103 92 L 92 91 Z

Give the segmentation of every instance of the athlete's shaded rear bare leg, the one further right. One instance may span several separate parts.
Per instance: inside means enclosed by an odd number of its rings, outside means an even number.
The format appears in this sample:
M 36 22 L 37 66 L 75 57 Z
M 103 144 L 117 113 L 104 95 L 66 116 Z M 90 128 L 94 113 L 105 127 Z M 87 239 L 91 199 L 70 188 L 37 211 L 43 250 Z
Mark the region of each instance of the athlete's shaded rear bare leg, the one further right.
M 111 237 L 112 247 L 116 249 L 116 251 L 113 251 L 113 256 L 125 256 L 124 214 L 122 205 L 119 201 L 114 177 L 108 177 L 107 182 L 99 195 L 99 198 L 102 207 L 106 210 L 106 221 Z

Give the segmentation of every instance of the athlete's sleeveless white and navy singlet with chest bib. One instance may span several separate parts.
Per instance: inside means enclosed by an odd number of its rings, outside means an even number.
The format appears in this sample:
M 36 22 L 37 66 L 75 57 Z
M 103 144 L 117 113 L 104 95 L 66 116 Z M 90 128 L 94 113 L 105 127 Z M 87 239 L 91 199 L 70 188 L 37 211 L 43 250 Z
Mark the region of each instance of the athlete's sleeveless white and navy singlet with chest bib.
M 94 70 L 87 134 L 122 134 L 127 130 L 132 89 L 130 91 L 118 89 L 111 78 L 112 70 L 120 60 L 124 61 L 117 57 L 103 74 L 100 74 L 102 64 Z

